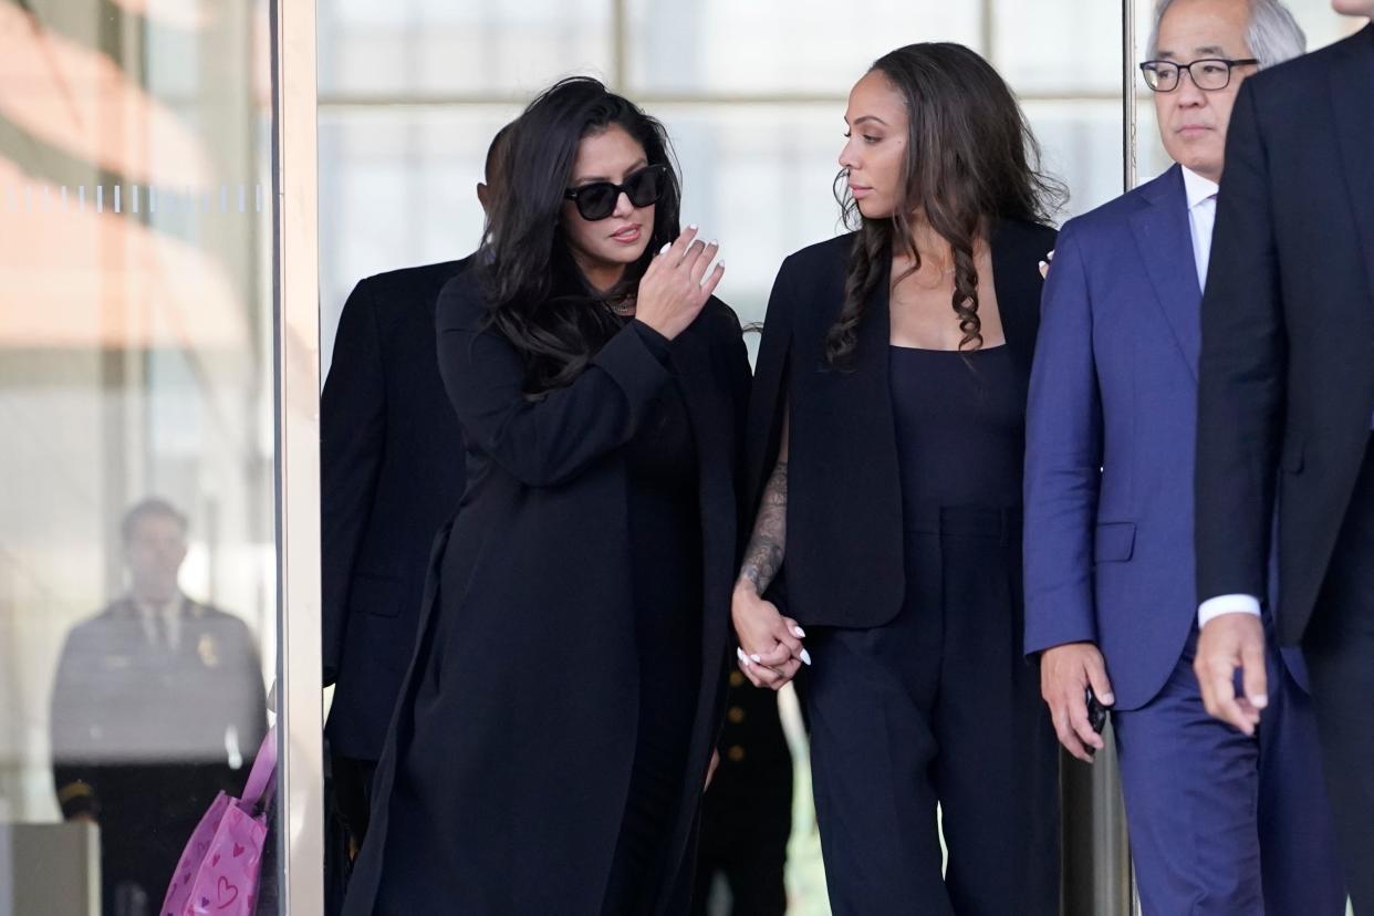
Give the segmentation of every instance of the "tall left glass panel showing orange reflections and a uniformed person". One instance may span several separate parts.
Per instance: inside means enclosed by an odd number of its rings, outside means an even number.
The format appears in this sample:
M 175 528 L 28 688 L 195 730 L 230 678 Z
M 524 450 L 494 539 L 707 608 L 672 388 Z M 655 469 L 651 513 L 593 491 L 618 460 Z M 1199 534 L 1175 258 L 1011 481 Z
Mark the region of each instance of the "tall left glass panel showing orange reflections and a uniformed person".
M 0 3 L 0 916 L 164 912 L 268 726 L 269 60 L 267 0 Z

